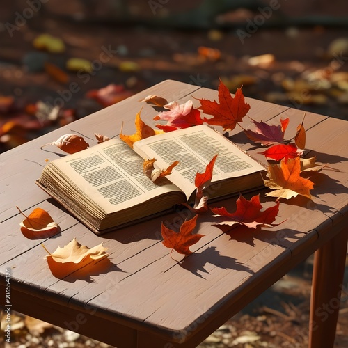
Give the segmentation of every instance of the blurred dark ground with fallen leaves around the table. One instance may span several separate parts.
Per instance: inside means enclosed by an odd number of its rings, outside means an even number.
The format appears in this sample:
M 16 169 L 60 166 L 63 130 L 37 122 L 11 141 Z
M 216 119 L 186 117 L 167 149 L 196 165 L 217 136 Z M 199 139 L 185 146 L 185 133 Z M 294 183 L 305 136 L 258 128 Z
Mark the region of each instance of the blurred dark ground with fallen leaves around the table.
M 1 1 L 0 152 L 165 79 L 219 77 L 348 120 L 347 1 Z M 310 275 L 307 260 L 202 347 L 306 347 Z M 336 347 L 348 347 L 345 279 Z M 20 314 L 15 332 L 13 347 L 108 347 Z

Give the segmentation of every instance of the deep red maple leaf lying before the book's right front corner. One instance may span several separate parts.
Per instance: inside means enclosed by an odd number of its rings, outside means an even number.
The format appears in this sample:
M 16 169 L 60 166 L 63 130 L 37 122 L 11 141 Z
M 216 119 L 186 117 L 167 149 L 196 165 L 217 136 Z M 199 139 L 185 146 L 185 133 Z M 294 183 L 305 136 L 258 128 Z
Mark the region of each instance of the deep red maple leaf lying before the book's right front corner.
M 244 225 L 248 228 L 257 227 L 274 227 L 277 224 L 272 224 L 278 215 L 279 202 L 273 207 L 263 209 L 260 203 L 260 195 L 251 197 L 251 200 L 247 200 L 239 195 L 237 199 L 237 209 L 235 212 L 230 213 L 225 207 L 211 208 L 212 212 L 216 216 L 227 217 L 228 221 L 223 221 L 221 223 L 216 223 L 216 225 Z

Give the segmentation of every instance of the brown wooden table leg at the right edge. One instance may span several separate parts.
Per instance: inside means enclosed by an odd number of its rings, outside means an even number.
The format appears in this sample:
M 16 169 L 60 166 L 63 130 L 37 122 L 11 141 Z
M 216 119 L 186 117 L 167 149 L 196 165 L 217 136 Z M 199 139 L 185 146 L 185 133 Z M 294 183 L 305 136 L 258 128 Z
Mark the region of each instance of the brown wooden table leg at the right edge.
M 348 231 L 315 251 L 308 347 L 331 348 L 335 341 L 345 272 Z

